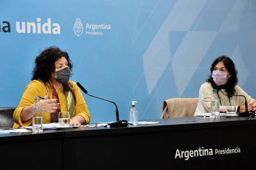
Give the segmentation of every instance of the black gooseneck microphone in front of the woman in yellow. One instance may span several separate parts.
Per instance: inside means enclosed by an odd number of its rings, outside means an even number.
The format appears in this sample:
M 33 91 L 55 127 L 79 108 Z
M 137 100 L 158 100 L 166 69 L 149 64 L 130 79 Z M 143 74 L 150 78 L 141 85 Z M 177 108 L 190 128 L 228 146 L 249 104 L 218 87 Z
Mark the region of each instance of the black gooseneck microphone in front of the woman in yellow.
M 107 99 L 104 99 L 104 98 L 101 98 L 101 97 L 97 97 L 97 96 L 93 96 L 93 95 L 89 95 L 88 94 L 88 91 L 86 89 L 84 89 L 84 87 L 80 84 L 80 83 L 76 83 L 78 87 L 80 87 L 80 89 L 86 93 L 86 95 L 88 96 L 92 96 L 92 97 L 95 97 L 95 98 L 99 98 L 101 100 L 105 100 L 107 102 L 111 102 L 115 105 L 115 115 L 117 117 L 117 122 L 113 122 L 113 123 L 109 123 L 107 125 L 105 125 L 105 127 L 111 127 L 111 128 L 120 128 L 120 127 L 127 127 L 128 124 L 131 124 L 131 123 L 128 123 L 128 121 L 125 121 L 125 120 L 122 120 L 120 121 L 119 120 L 119 111 L 118 111 L 118 108 L 117 108 L 117 104 L 115 104 L 113 101 L 111 100 L 107 100 Z

